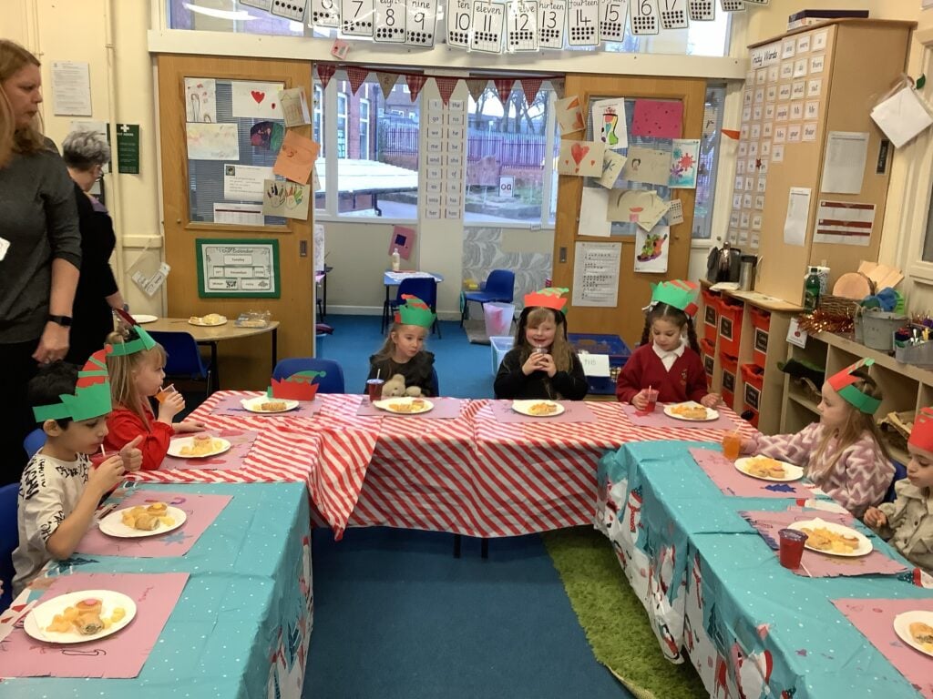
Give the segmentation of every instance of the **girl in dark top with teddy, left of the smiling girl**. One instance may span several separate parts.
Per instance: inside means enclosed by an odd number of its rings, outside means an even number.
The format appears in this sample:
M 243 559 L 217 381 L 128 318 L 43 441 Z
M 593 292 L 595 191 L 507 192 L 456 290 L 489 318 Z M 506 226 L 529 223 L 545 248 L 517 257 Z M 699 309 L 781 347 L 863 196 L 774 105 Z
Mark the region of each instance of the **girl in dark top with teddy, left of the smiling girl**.
M 369 357 L 370 378 L 388 381 L 396 374 L 405 377 L 405 386 L 417 386 L 424 396 L 434 395 L 434 354 L 425 349 L 427 331 L 434 324 L 434 313 L 424 301 L 410 294 L 396 311 L 395 322 L 382 349 Z

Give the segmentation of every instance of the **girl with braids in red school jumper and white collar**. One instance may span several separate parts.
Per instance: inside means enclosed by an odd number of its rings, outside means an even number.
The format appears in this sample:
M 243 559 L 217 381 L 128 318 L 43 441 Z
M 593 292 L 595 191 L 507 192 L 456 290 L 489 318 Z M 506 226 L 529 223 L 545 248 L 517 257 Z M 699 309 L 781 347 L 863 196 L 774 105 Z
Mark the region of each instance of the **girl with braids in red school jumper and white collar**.
M 692 281 L 652 284 L 641 344 L 616 381 L 616 397 L 638 410 L 648 406 L 648 389 L 660 403 L 696 401 L 714 407 L 722 399 L 706 391 L 700 346 L 693 329 L 699 287 Z M 684 336 L 687 339 L 684 339 Z

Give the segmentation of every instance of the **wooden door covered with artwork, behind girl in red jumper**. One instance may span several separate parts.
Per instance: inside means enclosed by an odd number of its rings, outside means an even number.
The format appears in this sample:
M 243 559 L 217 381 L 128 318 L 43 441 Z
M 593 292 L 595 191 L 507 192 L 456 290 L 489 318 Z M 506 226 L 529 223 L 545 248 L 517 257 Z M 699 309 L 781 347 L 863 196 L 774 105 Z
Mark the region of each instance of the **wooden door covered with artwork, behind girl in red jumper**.
M 639 77 L 634 75 L 571 75 L 564 83 L 566 96 L 578 95 L 583 113 L 588 115 L 591 100 L 608 97 L 680 100 L 684 104 L 681 138 L 701 138 L 706 81 L 701 78 Z M 585 131 L 567 134 L 571 140 L 583 141 Z M 580 197 L 583 180 L 561 175 L 557 191 L 557 217 L 554 231 L 555 286 L 573 291 L 574 254 L 577 242 L 620 242 L 622 244 L 618 305 L 615 308 L 575 307 L 569 328 L 574 333 L 608 333 L 621 336 L 632 348 L 641 339 L 645 316 L 641 308 L 651 297 L 650 283 L 668 279 L 686 279 L 690 254 L 690 231 L 693 229 L 693 189 L 671 190 L 672 198 L 680 199 L 684 207 L 684 222 L 671 226 L 670 255 L 665 274 L 634 272 L 634 237 L 612 236 L 594 238 L 578 236 Z

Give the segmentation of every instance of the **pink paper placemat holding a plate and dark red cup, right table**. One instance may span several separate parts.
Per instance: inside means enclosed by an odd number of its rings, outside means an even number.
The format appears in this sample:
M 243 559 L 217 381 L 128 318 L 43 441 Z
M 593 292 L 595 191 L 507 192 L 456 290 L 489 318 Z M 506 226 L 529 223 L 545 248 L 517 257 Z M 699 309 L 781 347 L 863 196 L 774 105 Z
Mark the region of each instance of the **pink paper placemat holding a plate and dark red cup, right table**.
M 741 514 L 752 527 L 758 529 L 761 537 L 768 541 L 768 545 L 772 548 L 777 545 L 777 532 L 794 522 L 818 517 L 825 522 L 833 522 L 845 527 L 852 527 L 855 523 L 851 514 L 834 514 L 822 510 L 804 511 L 796 507 L 784 512 L 761 511 Z M 776 549 L 774 555 L 778 555 Z M 804 549 L 801 568 L 791 572 L 807 578 L 836 578 L 870 574 L 896 575 L 904 570 L 907 570 L 907 566 L 884 555 L 877 548 L 873 549 L 869 555 L 857 557 L 819 554 L 810 549 Z

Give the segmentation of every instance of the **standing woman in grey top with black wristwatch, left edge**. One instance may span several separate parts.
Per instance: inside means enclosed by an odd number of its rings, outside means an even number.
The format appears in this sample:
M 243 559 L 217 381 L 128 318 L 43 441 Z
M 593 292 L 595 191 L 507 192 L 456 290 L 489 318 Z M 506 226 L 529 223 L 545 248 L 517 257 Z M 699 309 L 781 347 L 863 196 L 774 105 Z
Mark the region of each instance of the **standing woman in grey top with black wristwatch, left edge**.
M 68 351 L 81 263 L 74 184 L 38 129 L 41 84 L 35 56 L 0 39 L 0 484 L 26 465 L 26 384 Z

